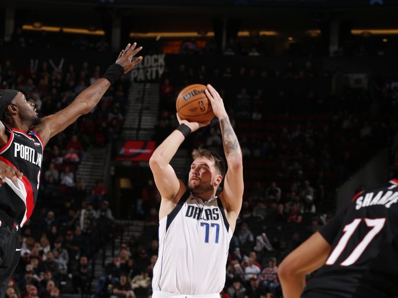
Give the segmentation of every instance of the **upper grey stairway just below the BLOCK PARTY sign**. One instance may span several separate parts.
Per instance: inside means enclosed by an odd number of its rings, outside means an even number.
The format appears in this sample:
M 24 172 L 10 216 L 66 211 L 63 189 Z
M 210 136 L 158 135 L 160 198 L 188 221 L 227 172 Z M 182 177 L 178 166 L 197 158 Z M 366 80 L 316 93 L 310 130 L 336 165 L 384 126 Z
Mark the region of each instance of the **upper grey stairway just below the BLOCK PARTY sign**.
M 128 94 L 123 139 L 151 140 L 157 123 L 158 109 L 159 84 L 133 83 Z

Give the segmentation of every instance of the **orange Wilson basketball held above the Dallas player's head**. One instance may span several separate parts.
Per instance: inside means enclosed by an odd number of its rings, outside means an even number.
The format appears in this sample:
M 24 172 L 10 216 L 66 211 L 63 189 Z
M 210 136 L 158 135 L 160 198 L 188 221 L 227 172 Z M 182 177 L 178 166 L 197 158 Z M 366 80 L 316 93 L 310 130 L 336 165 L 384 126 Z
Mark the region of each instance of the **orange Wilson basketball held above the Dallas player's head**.
M 213 109 L 204 90 L 205 85 L 193 84 L 185 87 L 177 96 L 176 108 L 181 119 L 190 122 L 206 122 L 214 118 Z

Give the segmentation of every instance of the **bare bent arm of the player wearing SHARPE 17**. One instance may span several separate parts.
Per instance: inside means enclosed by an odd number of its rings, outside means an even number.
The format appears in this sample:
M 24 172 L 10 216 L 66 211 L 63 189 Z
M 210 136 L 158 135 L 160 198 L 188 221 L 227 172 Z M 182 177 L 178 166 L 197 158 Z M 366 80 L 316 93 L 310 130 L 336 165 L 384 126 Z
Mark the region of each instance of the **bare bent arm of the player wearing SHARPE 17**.
M 292 251 L 279 265 L 278 276 L 286 298 L 299 298 L 305 287 L 305 275 L 320 268 L 330 252 L 330 244 L 319 232 Z

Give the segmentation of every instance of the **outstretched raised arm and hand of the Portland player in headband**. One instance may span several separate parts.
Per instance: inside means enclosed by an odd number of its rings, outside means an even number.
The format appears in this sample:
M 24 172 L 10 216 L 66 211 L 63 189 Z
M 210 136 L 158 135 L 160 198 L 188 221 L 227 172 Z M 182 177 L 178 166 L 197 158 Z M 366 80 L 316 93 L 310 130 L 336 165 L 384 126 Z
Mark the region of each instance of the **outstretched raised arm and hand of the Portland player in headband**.
M 123 69 L 118 69 L 117 65 L 115 67 L 112 66 L 113 69 L 110 71 L 109 68 L 108 70 L 108 74 L 110 76 L 106 76 L 107 73 L 104 74 L 108 79 L 104 77 L 100 78 L 90 87 L 83 90 L 65 109 L 48 117 L 44 117 L 41 120 L 41 123 L 37 125 L 34 130 L 41 135 L 44 144 L 47 144 L 52 137 L 74 123 L 80 116 L 88 114 L 92 109 L 94 109 L 103 94 L 111 85 L 109 78 L 111 80 L 117 79 L 117 77 L 123 72 L 124 74 L 129 72 L 142 61 L 142 57 L 138 57 L 131 62 L 133 57 L 142 49 L 142 47 L 135 47 L 136 43 L 132 46 L 128 44 L 127 47 L 120 52 L 119 57 L 116 60 L 116 64 L 120 65 Z

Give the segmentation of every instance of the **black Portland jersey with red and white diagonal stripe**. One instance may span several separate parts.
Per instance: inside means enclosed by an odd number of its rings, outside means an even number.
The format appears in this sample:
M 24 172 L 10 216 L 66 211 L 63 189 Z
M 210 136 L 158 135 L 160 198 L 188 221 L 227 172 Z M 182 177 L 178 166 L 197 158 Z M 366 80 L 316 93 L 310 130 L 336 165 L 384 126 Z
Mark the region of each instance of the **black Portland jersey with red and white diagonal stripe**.
M 22 226 L 32 215 L 40 182 L 40 169 L 43 158 L 43 141 L 33 131 L 24 133 L 6 127 L 8 142 L 0 149 L 0 161 L 15 166 L 23 173 L 22 179 L 0 187 L 0 210 Z

